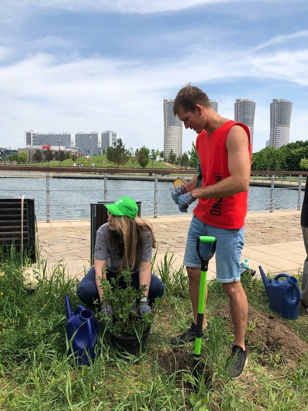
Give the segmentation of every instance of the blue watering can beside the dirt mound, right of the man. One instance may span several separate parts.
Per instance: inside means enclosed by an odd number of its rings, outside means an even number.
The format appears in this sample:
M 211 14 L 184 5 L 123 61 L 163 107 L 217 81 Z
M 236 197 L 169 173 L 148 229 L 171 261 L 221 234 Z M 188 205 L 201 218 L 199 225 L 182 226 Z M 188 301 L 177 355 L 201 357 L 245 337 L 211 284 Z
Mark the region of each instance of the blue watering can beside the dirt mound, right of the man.
M 300 290 L 297 280 L 289 274 L 278 274 L 273 280 L 266 277 L 261 265 L 259 270 L 269 300 L 269 308 L 288 320 L 296 320 L 299 313 Z M 280 281 L 279 278 L 286 277 Z

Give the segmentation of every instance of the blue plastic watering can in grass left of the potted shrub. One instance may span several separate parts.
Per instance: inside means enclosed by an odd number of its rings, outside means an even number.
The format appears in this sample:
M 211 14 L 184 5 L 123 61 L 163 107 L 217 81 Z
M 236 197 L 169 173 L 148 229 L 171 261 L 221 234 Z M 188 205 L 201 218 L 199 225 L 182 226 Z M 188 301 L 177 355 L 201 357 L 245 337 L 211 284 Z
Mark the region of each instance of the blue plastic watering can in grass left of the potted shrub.
M 97 320 L 91 310 L 77 306 L 73 312 L 68 295 L 65 298 L 66 309 L 66 334 L 71 344 L 70 352 L 80 365 L 89 365 L 90 359 L 95 358 L 95 345 L 97 344 Z

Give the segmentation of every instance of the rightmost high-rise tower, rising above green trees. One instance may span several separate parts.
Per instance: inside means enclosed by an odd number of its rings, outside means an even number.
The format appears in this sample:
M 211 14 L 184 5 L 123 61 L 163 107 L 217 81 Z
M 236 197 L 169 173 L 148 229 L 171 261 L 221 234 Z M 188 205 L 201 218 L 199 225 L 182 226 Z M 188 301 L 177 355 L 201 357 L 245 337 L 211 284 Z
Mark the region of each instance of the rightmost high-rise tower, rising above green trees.
M 288 100 L 273 99 L 270 103 L 269 145 L 279 148 L 289 143 L 290 123 L 293 103 Z

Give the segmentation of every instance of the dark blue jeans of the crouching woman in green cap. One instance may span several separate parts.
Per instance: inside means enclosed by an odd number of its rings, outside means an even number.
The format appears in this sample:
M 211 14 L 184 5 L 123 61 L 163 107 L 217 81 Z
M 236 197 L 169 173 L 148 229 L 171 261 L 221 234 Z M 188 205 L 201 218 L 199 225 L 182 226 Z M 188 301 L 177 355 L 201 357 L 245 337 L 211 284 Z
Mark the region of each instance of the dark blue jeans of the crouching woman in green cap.
M 110 278 L 116 277 L 117 274 L 113 272 L 108 272 L 107 271 L 107 280 L 110 280 Z M 135 269 L 134 272 L 132 273 L 132 286 L 135 289 L 139 288 L 139 269 Z M 126 287 L 126 284 L 123 281 L 123 278 L 120 278 L 119 285 L 122 288 Z M 155 299 L 158 297 L 161 297 L 163 292 L 164 292 L 164 285 L 161 282 L 161 280 L 154 276 L 154 274 L 151 274 L 151 284 L 150 284 L 150 289 L 149 289 L 149 303 L 153 304 Z M 90 268 L 88 273 L 86 274 L 85 277 L 80 281 L 78 290 L 77 290 L 78 297 L 82 301 L 82 303 L 88 304 L 89 306 L 93 305 L 95 300 L 99 299 L 98 292 L 97 292 L 97 286 L 95 282 L 95 269 L 94 267 Z

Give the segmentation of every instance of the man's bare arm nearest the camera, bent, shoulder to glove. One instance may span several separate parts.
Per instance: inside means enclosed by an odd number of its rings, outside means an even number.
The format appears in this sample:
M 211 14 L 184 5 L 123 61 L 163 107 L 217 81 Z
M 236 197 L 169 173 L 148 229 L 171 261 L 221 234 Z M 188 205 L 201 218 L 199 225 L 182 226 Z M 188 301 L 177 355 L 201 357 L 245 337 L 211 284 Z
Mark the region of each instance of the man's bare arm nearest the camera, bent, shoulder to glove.
M 226 141 L 230 177 L 214 185 L 191 189 L 192 197 L 223 198 L 247 191 L 250 181 L 250 156 L 248 147 L 246 131 L 241 126 L 233 126 L 229 131 Z

